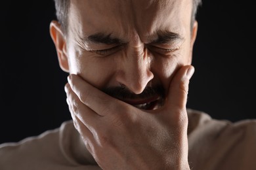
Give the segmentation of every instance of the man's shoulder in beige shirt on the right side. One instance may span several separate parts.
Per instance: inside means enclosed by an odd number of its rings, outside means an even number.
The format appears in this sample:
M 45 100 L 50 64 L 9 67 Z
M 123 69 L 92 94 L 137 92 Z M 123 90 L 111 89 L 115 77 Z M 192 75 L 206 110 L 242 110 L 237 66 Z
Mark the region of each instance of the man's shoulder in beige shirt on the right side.
M 253 169 L 256 120 L 216 120 L 188 109 L 189 159 L 196 169 Z

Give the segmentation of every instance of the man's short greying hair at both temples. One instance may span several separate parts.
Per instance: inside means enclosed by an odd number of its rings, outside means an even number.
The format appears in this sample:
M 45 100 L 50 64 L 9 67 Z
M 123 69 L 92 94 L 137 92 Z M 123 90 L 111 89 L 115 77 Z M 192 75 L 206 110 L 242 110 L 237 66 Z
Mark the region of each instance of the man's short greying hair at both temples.
M 192 0 L 192 16 L 191 16 L 191 27 L 196 20 L 196 14 L 198 11 L 198 7 L 202 5 L 202 0 Z M 54 0 L 56 17 L 58 22 L 60 23 L 64 33 L 68 31 L 68 13 L 70 9 L 70 0 Z

